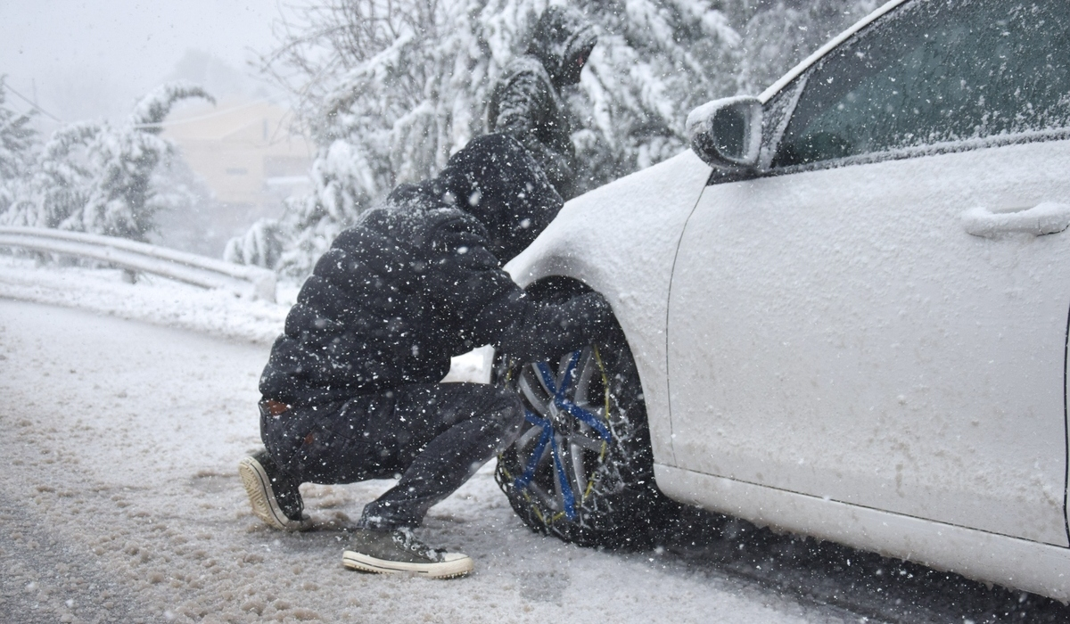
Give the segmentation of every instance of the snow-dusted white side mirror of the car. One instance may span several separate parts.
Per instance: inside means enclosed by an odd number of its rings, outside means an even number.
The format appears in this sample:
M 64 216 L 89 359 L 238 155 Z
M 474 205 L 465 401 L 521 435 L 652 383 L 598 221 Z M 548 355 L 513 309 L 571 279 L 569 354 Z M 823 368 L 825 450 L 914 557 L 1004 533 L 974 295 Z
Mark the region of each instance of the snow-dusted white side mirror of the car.
M 762 147 L 762 103 L 750 95 L 707 102 L 687 116 L 691 149 L 718 169 L 758 166 Z

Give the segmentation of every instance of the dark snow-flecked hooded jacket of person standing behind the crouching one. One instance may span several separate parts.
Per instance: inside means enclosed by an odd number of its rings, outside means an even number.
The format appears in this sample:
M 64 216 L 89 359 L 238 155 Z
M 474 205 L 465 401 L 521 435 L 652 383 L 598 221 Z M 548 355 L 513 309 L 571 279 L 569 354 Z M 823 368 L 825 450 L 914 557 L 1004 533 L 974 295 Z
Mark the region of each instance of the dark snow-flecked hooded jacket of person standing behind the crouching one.
M 574 194 L 576 148 L 561 88 L 580 81 L 597 41 L 594 27 L 580 12 L 547 9 L 526 54 L 505 67 L 487 107 L 490 132 L 520 141 L 565 199 Z

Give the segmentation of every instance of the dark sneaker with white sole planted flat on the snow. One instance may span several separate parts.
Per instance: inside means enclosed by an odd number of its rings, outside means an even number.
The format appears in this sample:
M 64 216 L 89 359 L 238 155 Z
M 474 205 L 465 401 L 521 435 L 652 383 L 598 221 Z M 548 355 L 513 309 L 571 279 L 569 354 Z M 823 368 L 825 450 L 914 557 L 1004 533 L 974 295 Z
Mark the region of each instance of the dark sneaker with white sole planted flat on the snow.
M 357 529 L 350 537 L 350 548 L 341 554 L 342 565 L 350 569 L 428 578 L 449 578 L 472 572 L 469 555 L 435 550 L 416 539 L 408 529 Z

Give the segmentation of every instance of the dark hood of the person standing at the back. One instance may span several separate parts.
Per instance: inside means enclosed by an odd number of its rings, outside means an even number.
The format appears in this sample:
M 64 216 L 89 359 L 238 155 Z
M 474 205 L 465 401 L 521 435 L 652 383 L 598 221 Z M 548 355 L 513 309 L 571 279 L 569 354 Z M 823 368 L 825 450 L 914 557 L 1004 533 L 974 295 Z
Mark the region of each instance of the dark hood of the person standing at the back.
M 541 61 L 554 86 L 576 85 L 583 65 L 598 42 L 594 26 L 570 6 L 550 6 L 542 12 L 528 54 Z

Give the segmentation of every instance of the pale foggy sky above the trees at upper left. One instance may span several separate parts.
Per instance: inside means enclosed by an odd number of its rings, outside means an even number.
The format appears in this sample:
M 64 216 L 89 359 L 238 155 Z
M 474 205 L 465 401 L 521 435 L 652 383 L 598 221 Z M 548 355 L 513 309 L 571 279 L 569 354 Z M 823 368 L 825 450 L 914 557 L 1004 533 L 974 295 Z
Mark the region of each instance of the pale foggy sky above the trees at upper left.
M 280 11 L 273 0 L 0 0 L 0 74 L 64 122 L 120 120 L 190 50 L 253 74 Z

